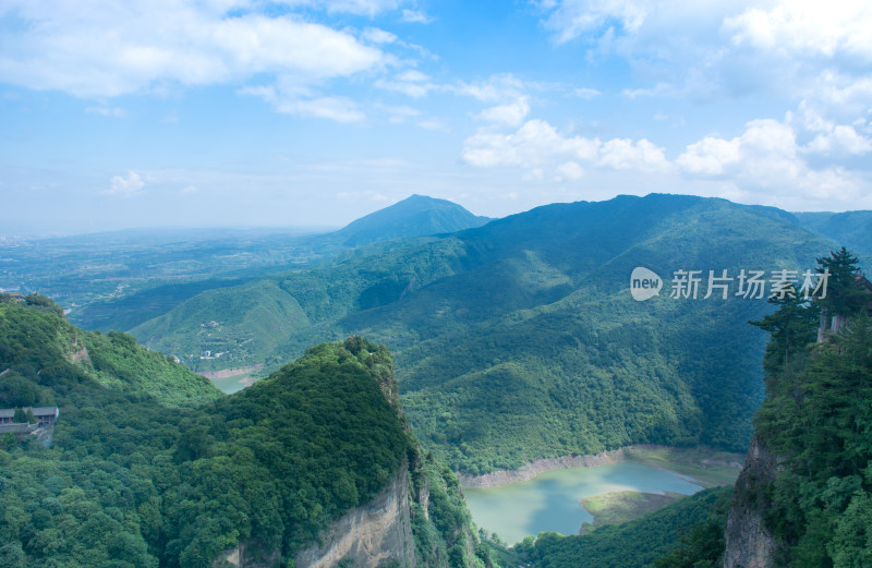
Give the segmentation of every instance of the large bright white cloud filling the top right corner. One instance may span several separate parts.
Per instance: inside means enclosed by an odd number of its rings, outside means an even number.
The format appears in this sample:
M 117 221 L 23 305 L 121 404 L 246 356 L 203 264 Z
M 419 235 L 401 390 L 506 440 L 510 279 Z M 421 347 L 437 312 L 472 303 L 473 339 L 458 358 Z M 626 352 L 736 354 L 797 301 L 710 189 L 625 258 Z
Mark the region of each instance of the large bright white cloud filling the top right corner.
M 586 57 L 621 57 L 628 97 L 716 100 L 749 94 L 847 98 L 864 112 L 872 61 L 865 0 L 538 0 L 542 25 Z M 858 85 L 859 83 L 859 85 Z M 865 85 L 863 85 L 865 83 Z

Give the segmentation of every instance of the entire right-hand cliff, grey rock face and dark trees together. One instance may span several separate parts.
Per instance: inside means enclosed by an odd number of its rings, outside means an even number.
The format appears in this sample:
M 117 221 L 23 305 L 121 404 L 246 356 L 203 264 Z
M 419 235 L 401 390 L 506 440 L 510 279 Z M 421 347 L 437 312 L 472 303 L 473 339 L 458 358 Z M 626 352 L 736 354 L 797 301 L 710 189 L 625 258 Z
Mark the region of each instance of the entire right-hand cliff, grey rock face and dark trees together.
M 766 399 L 734 492 L 725 568 L 872 566 L 872 292 L 845 249 L 826 299 L 770 299 Z M 862 279 L 865 281 L 864 279 Z M 816 342 L 821 309 L 846 326 Z

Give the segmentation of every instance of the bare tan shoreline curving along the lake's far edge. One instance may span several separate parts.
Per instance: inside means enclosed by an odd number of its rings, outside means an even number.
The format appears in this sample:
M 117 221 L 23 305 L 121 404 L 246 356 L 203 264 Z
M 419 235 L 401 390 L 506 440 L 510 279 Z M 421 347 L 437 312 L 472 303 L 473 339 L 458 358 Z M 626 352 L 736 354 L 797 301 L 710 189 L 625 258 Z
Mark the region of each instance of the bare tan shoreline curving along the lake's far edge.
M 608 466 L 611 463 L 622 463 L 626 461 L 639 461 L 647 463 L 649 466 L 657 468 L 659 464 L 651 462 L 644 456 L 634 456 L 635 451 L 688 451 L 701 452 L 708 458 L 694 460 L 694 466 L 717 466 L 727 467 L 730 469 L 741 469 L 741 463 L 737 461 L 727 461 L 722 459 L 712 459 L 715 454 L 724 454 L 723 451 L 698 446 L 694 448 L 678 448 L 674 446 L 659 446 L 655 444 L 637 444 L 632 446 L 625 446 L 622 448 L 607 450 L 600 454 L 584 455 L 584 456 L 561 456 L 557 458 L 540 458 L 529 461 L 516 470 L 497 470 L 482 475 L 471 475 L 469 473 L 458 473 L 460 485 L 463 488 L 491 488 L 500 487 L 502 485 L 510 485 L 512 483 L 521 483 L 530 481 L 541 473 L 554 470 L 564 470 L 570 468 L 596 468 L 600 466 Z M 738 454 L 736 456 L 739 456 Z M 743 461 L 743 460 L 742 460 Z M 665 469 L 659 467 L 659 469 Z M 675 472 L 681 476 L 689 476 L 681 472 Z M 699 480 L 695 480 L 699 483 Z

